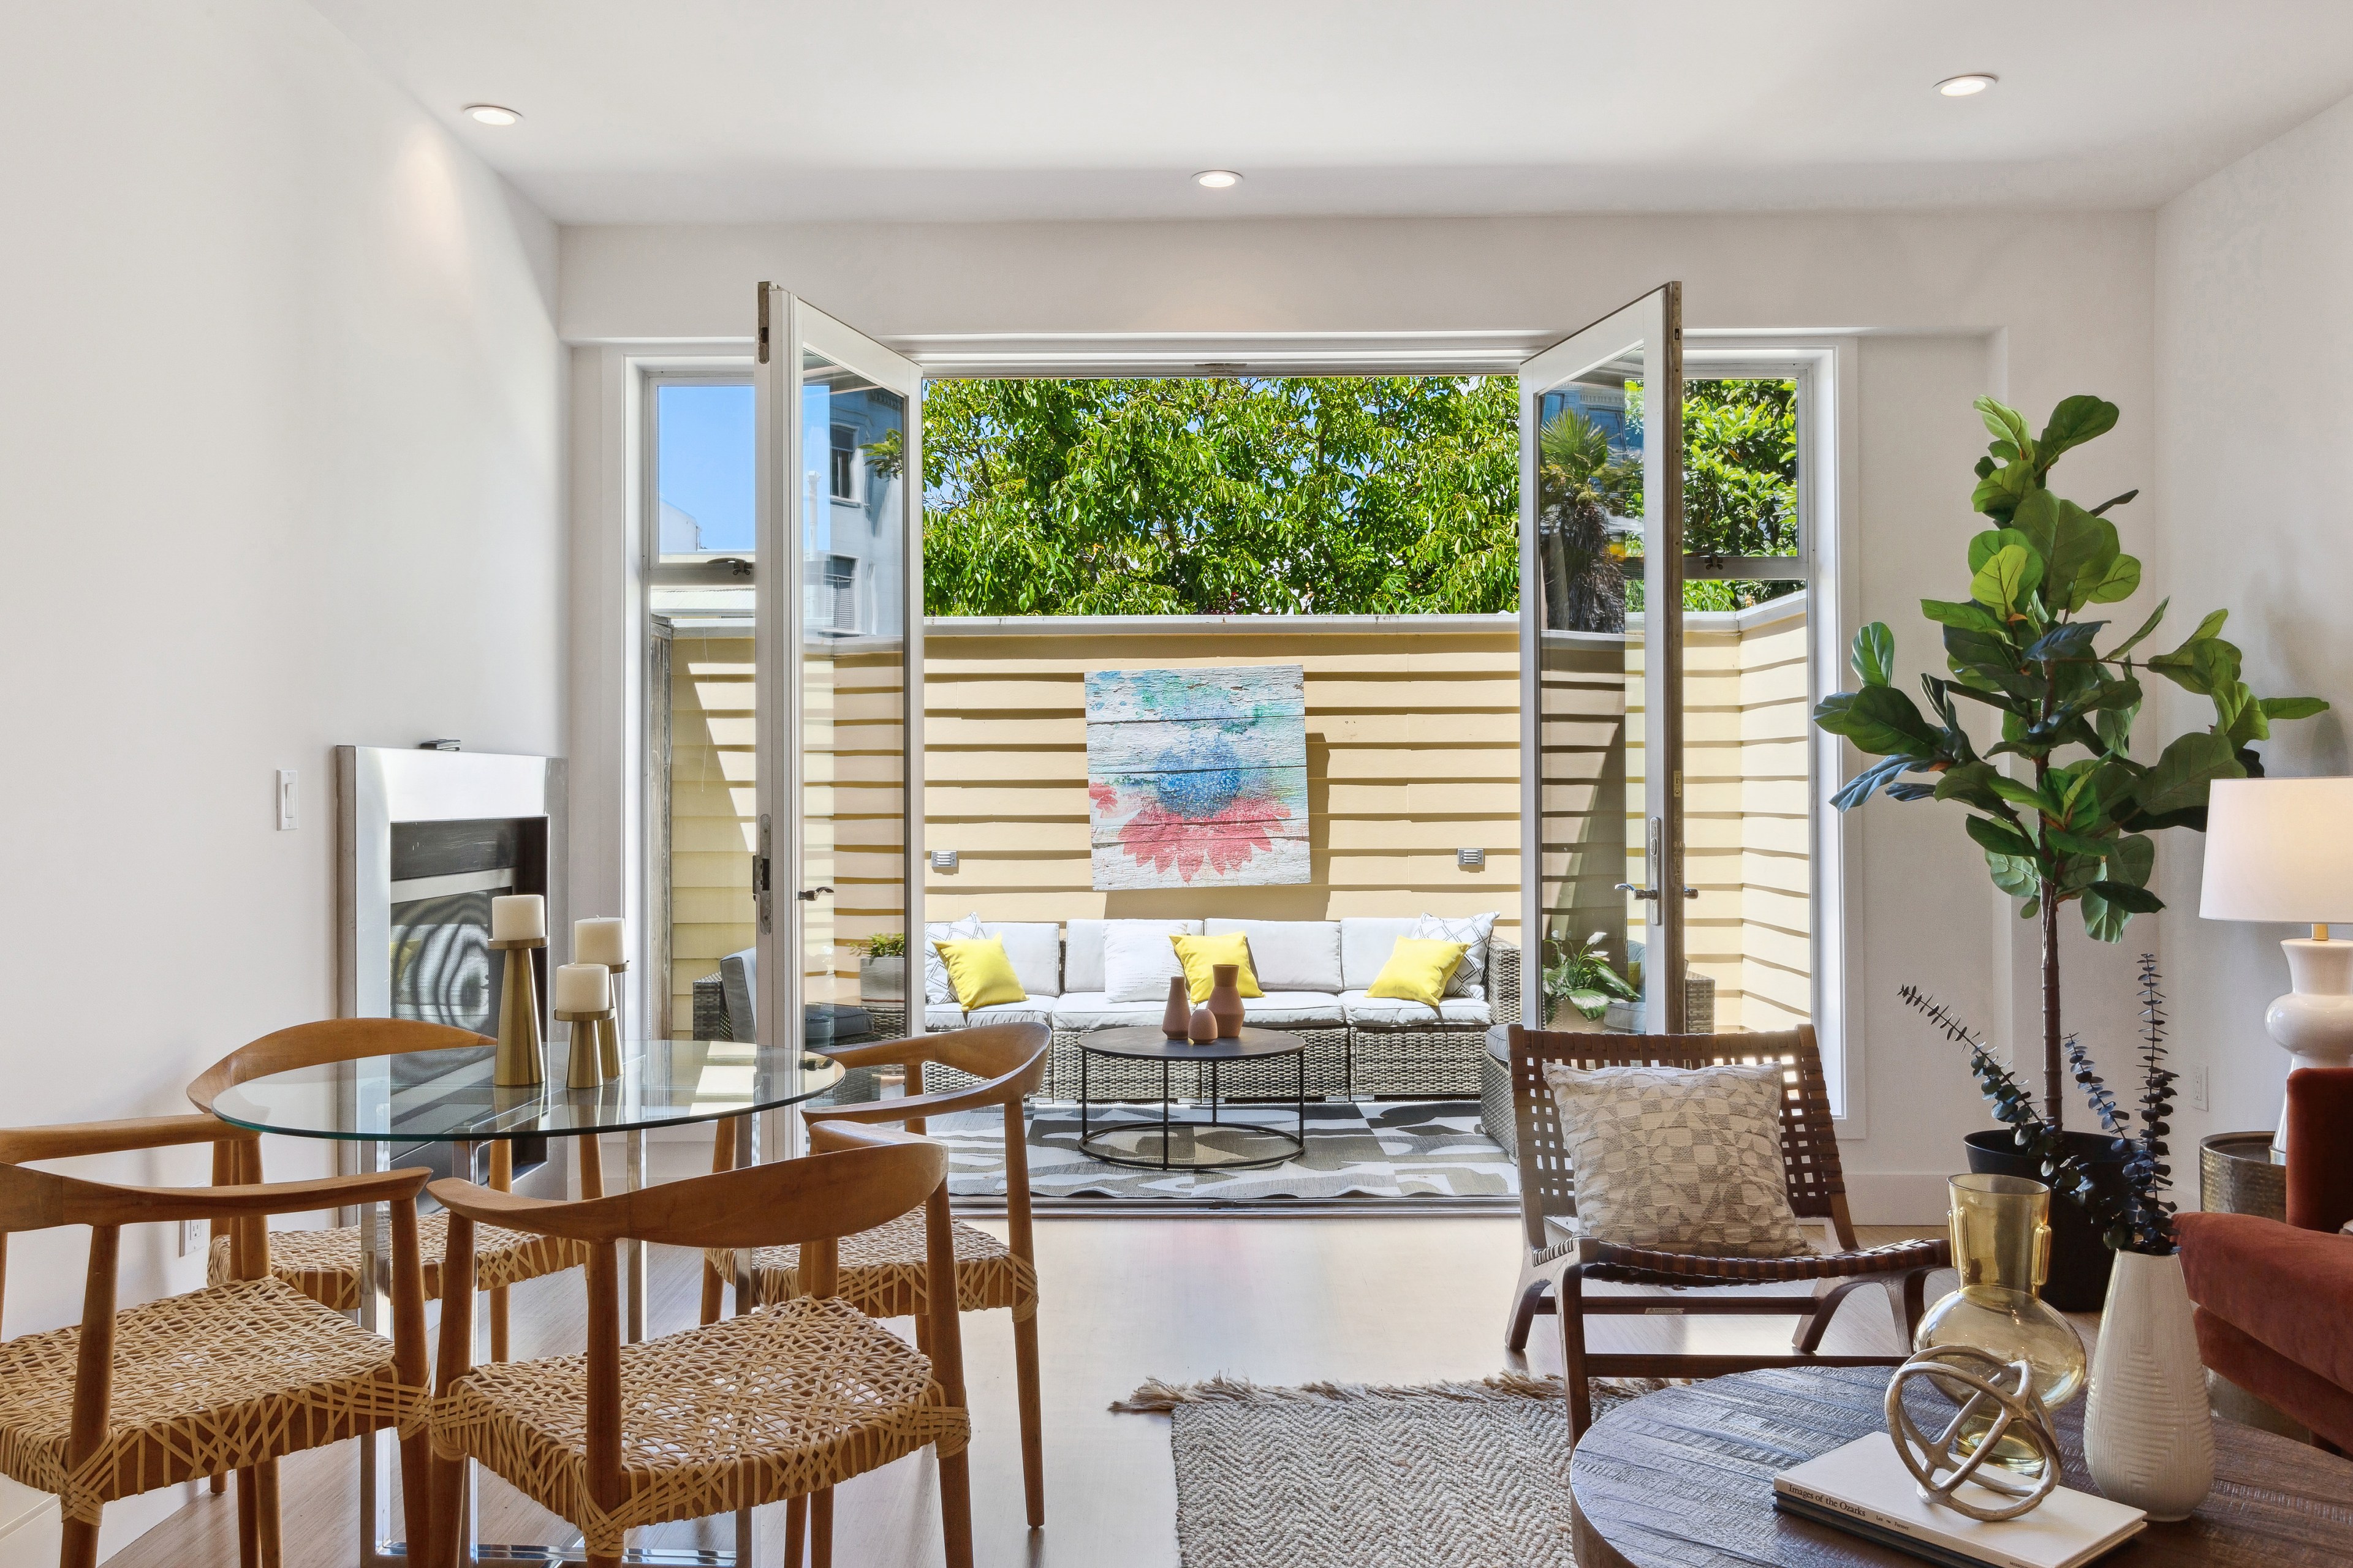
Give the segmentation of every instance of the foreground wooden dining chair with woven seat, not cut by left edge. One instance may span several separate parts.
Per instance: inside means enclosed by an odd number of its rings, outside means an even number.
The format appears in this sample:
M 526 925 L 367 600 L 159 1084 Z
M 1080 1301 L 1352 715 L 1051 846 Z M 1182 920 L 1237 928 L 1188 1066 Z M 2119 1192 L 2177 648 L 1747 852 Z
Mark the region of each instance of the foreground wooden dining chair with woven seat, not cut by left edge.
M 927 1267 L 955 1272 L 948 1152 L 889 1128 L 814 1126 L 807 1159 L 558 1204 L 438 1180 L 449 1260 L 468 1284 L 478 1225 L 588 1248 L 588 1354 L 468 1366 L 473 1293 L 442 1307 L 433 1406 L 433 1561 L 459 1559 L 464 1460 L 572 1521 L 593 1566 L 626 1533 L 788 1502 L 816 1568 L 833 1554 L 833 1486 L 932 1448 L 948 1568 L 972 1566 L 965 1352 L 955 1305 L 934 1300 L 915 1349 L 835 1293 L 838 1239 L 922 1211 Z M 614 1244 L 798 1246 L 809 1291 L 722 1324 L 621 1342 Z

